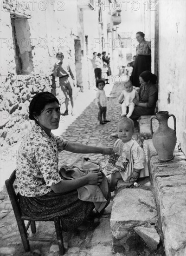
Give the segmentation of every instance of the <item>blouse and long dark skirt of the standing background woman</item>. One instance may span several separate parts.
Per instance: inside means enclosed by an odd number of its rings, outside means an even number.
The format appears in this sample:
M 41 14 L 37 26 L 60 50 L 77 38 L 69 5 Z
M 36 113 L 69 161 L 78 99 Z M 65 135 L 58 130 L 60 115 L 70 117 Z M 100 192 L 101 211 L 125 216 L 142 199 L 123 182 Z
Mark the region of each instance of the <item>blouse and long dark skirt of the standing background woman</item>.
M 130 77 L 133 86 L 140 87 L 140 74 L 146 70 L 151 71 L 151 48 L 148 41 L 145 41 L 144 45 L 136 47 L 135 66 Z

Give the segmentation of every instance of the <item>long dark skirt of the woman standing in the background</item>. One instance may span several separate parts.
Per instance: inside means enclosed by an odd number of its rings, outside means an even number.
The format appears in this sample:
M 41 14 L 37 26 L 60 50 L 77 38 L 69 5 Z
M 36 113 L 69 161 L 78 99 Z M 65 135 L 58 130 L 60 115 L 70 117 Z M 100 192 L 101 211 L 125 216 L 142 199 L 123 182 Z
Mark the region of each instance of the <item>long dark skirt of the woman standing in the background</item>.
M 143 71 L 151 71 L 151 56 L 150 55 L 137 55 L 135 60 L 135 67 L 130 77 L 133 86 L 140 87 L 140 74 Z

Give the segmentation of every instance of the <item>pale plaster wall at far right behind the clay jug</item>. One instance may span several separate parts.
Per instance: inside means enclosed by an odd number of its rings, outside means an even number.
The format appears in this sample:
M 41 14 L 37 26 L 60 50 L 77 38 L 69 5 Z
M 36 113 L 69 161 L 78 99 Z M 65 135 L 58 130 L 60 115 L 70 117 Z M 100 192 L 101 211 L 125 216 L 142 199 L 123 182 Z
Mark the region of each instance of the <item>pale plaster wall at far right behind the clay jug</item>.
M 186 1 L 159 1 L 158 109 L 176 117 L 177 141 L 186 154 Z M 172 119 L 172 118 L 169 118 Z M 173 127 L 173 121 L 169 124 Z

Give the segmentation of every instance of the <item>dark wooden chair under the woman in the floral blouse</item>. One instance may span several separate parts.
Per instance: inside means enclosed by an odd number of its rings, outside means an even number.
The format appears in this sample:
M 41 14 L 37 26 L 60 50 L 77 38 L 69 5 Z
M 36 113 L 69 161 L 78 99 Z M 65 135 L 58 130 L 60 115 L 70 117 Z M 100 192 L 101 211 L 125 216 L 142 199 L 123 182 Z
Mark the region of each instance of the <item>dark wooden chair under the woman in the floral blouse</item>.
M 22 216 L 20 205 L 19 205 L 19 193 L 16 194 L 15 189 L 13 187 L 13 183 L 16 180 L 15 176 L 15 170 L 11 174 L 10 178 L 5 181 L 6 184 L 6 189 L 8 192 L 8 195 L 10 197 L 10 201 L 12 203 L 13 211 L 15 214 L 15 218 L 18 224 L 19 228 L 19 233 L 22 239 L 22 243 L 24 246 L 25 251 L 30 251 L 30 244 L 29 240 L 37 240 L 37 241 L 46 241 L 44 239 L 39 239 L 39 237 L 28 237 L 27 235 L 27 230 L 29 229 L 29 226 L 31 227 L 31 231 L 33 234 L 36 233 L 36 221 L 43 221 L 40 219 L 34 219 L 34 218 L 29 218 L 29 217 L 24 217 Z M 27 226 L 25 226 L 25 222 L 28 221 Z M 60 223 L 60 217 L 54 217 L 52 219 L 48 219 L 45 221 L 53 221 L 55 224 L 55 229 L 56 229 L 56 235 L 58 239 L 58 246 L 59 246 L 59 252 L 60 255 L 64 255 L 64 243 L 63 243 L 63 236 L 62 236 L 62 228 L 61 228 L 61 223 Z

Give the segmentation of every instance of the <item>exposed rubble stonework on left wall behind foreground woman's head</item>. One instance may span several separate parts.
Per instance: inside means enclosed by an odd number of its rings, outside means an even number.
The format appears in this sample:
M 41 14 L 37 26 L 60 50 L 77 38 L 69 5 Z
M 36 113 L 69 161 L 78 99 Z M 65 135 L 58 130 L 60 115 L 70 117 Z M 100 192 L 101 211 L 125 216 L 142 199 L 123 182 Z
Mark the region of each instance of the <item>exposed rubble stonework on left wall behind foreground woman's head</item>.
M 33 96 L 43 91 L 51 91 L 49 77 L 17 75 L 7 78 L 0 87 L 0 145 L 3 148 L 21 140 L 31 123 L 28 107 Z

